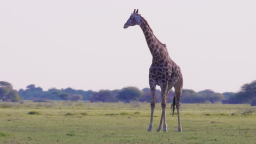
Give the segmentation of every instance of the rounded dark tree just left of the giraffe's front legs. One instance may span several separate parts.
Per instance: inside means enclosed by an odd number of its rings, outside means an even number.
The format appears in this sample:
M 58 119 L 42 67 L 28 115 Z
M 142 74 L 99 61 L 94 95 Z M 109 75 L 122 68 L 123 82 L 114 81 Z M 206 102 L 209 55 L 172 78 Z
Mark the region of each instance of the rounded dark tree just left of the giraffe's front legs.
M 117 97 L 119 100 L 125 101 L 125 103 L 130 103 L 130 101 L 138 100 L 142 95 L 142 91 L 137 87 L 125 87 L 121 89 Z

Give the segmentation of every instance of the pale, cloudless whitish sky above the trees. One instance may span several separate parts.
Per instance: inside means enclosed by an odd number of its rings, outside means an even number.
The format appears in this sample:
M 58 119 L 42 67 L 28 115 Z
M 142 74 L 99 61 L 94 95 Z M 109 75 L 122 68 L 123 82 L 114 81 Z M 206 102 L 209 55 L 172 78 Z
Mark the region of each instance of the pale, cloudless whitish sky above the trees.
M 0 81 L 15 89 L 149 87 L 152 56 L 133 9 L 182 69 L 184 88 L 256 80 L 256 1 L 0 1 Z

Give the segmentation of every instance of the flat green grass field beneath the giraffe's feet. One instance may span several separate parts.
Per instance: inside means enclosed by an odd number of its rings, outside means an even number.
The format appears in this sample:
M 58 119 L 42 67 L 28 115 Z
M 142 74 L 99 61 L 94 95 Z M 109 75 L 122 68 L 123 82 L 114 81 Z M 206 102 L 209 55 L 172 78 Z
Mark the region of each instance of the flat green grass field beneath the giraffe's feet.
M 147 132 L 150 104 L 0 103 L 0 143 L 256 143 L 256 107 L 182 104 L 183 133 L 167 105 L 168 132 Z M 30 114 L 28 114 L 30 113 Z

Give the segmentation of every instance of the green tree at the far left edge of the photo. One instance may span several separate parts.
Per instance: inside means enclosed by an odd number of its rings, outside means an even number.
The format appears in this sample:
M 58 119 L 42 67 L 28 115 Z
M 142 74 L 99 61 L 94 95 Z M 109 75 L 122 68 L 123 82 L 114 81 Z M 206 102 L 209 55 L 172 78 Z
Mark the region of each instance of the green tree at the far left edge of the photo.
M 11 83 L 0 81 L 0 99 L 2 101 L 18 102 L 20 101 L 20 95 L 18 91 L 13 89 Z

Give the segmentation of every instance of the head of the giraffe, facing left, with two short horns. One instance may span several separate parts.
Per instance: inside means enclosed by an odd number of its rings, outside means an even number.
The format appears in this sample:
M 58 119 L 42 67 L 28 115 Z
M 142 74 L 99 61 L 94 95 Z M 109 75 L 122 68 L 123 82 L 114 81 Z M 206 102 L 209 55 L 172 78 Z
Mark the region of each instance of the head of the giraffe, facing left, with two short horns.
M 129 17 L 129 19 L 126 21 L 124 28 L 130 27 L 130 26 L 135 26 L 139 25 L 141 26 L 141 15 L 138 14 L 138 9 L 134 9 L 133 13 Z

